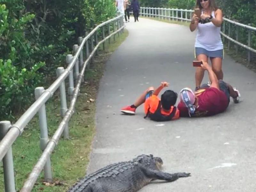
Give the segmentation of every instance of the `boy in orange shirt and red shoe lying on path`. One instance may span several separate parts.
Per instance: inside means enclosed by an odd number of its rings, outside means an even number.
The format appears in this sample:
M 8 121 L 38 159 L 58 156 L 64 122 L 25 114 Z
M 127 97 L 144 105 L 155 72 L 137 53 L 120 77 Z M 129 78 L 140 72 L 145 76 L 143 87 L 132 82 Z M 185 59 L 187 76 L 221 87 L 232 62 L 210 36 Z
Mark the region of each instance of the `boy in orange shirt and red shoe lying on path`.
M 120 111 L 126 115 L 135 115 L 135 110 L 144 104 L 145 117 L 147 116 L 153 121 L 170 121 L 178 119 L 180 113 L 174 105 L 177 101 L 178 94 L 172 90 L 166 90 L 161 95 L 161 100 L 157 97 L 164 87 L 168 87 L 169 83 L 162 82 L 161 85 L 154 90 L 149 87 L 140 97 L 132 104 L 122 108 Z

